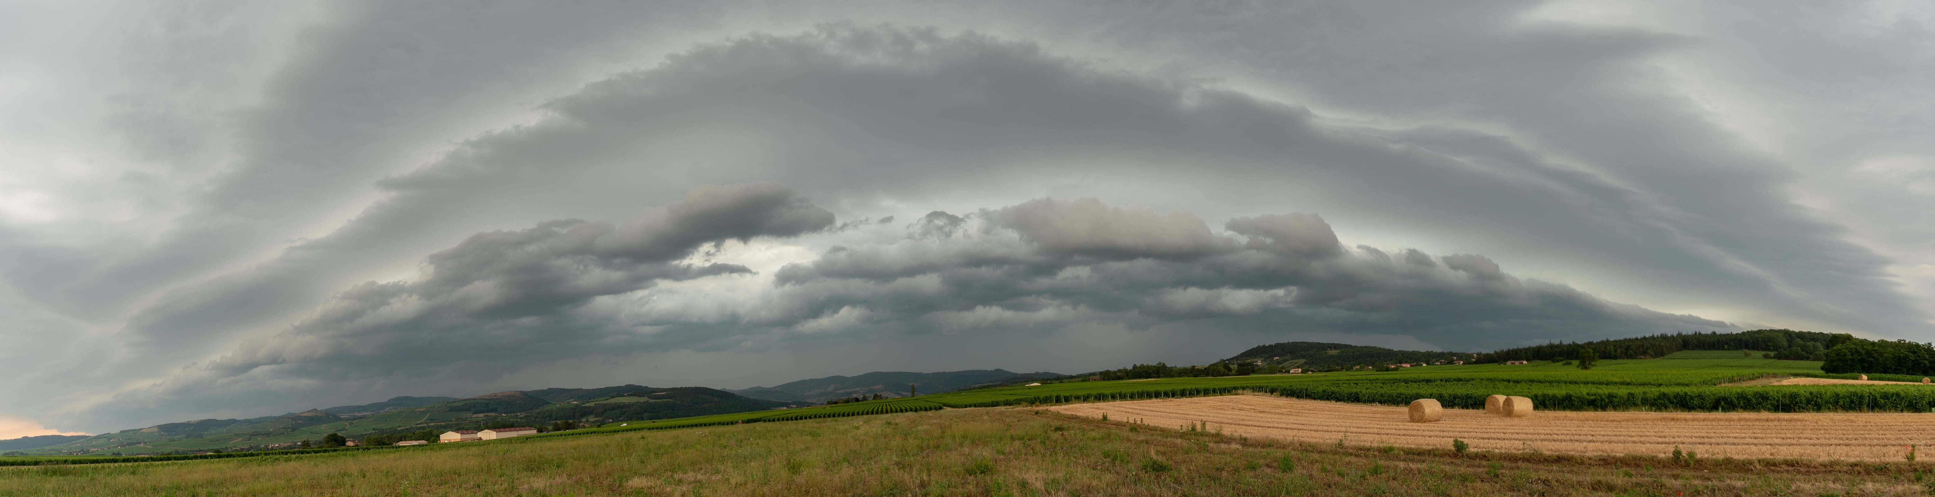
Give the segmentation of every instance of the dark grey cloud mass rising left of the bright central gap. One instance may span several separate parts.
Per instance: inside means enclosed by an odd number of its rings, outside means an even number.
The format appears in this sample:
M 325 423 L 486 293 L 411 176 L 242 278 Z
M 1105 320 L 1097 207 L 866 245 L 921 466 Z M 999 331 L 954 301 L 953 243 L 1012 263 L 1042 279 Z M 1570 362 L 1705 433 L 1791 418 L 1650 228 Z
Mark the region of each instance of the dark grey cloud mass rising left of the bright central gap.
M 615 226 L 548 220 L 476 234 L 432 253 L 418 280 L 350 286 L 288 331 L 248 340 L 203 371 L 161 385 L 161 393 L 215 389 L 250 373 L 259 373 L 257 381 L 352 381 L 461 365 L 505 371 L 579 356 L 606 333 L 573 315 L 590 300 L 658 280 L 749 273 L 681 259 L 704 244 L 799 236 L 832 224 L 832 213 L 784 186 L 733 184 L 697 188 Z

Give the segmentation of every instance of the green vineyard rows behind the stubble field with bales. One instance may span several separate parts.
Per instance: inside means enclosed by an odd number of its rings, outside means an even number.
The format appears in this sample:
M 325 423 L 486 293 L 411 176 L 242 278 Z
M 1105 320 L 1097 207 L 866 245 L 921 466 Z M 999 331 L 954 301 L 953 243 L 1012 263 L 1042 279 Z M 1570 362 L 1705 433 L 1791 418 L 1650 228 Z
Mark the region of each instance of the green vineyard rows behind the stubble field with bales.
M 1488 395 L 1531 396 L 1540 410 L 1682 410 L 1682 412 L 1929 412 L 1935 387 L 1923 385 L 1784 385 L 1720 387 L 1763 375 L 1825 375 L 1817 362 L 1780 360 L 1623 360 L 1581 371 L 1546 365 L 1430 365 L 1401 371 L 1318 375 L 1175 377 L 1149 381 L 1082 381 L 921 396 L 950 408 L 1113 402 L 1267 393 L 1291 398 L 1407 404 L 1438 398 L 1447 408 L 1482 408 Z M 1883 379 L 1877 375 L 1877 379 Z M 1896 377 L 1887 377 L 1896 379 Z M 1896 381 L 1920 381 L 1898 377 Z

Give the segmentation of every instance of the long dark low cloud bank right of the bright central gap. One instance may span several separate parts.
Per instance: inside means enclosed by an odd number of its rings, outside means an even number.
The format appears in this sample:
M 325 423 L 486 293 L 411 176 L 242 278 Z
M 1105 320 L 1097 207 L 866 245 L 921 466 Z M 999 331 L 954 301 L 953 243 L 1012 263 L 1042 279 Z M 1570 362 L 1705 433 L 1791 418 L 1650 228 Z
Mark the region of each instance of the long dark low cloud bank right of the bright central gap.
M 1240 317 L 1223 325 L 1279 331 L 1401 333 L 1476 348 L 1571 335 L 1734 329 L 1730 323 L 1604 302 L 1563 284 L 1503 273 L 1482 255 L 1389 257 L 1345 251 L 1316 215 L 1262 215 L 1217 234 L 1188 213 L 1035 199 L 989 209 L 971 240 L 902 240 L 838 248 L 778 275 L 791 325 L 863 307 L 880 323 L 948 313 L 1087 309 L 1084 321 L 1149 327 Z M 1182 257 L 1186 255 L 1186 257 Z M 909 292 L 909 288 L 919 288 Z

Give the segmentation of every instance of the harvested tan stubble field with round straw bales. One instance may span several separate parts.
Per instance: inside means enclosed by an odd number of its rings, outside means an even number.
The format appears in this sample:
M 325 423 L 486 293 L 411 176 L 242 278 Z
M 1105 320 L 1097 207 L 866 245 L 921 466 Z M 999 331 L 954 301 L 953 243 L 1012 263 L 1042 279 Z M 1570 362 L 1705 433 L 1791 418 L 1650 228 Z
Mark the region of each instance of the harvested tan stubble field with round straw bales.
M 1397 445 L 1552 454 L 1672 454 L 1701 458 L 1902 460 L 1908 445 L 1935 456 L 1935 414 L 1751 414 L 1751 412 L 1534 412 L 1529 418 L 1445 410 L 1444 422 L 1413 424 L 1405 408 L 1296 400 L 1260 395 L 1161 398 L 1055 406 L 1057 412 L 1176 429 L 1310 443 Z

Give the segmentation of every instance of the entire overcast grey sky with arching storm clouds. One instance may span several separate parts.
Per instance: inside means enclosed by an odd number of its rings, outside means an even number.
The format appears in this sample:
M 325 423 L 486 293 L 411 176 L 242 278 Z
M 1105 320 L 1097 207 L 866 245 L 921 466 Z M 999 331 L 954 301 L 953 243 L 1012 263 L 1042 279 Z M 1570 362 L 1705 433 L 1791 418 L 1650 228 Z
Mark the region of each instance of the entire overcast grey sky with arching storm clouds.
M 0 439 L 1935 340 L 1927 2 L 0 0 Z

